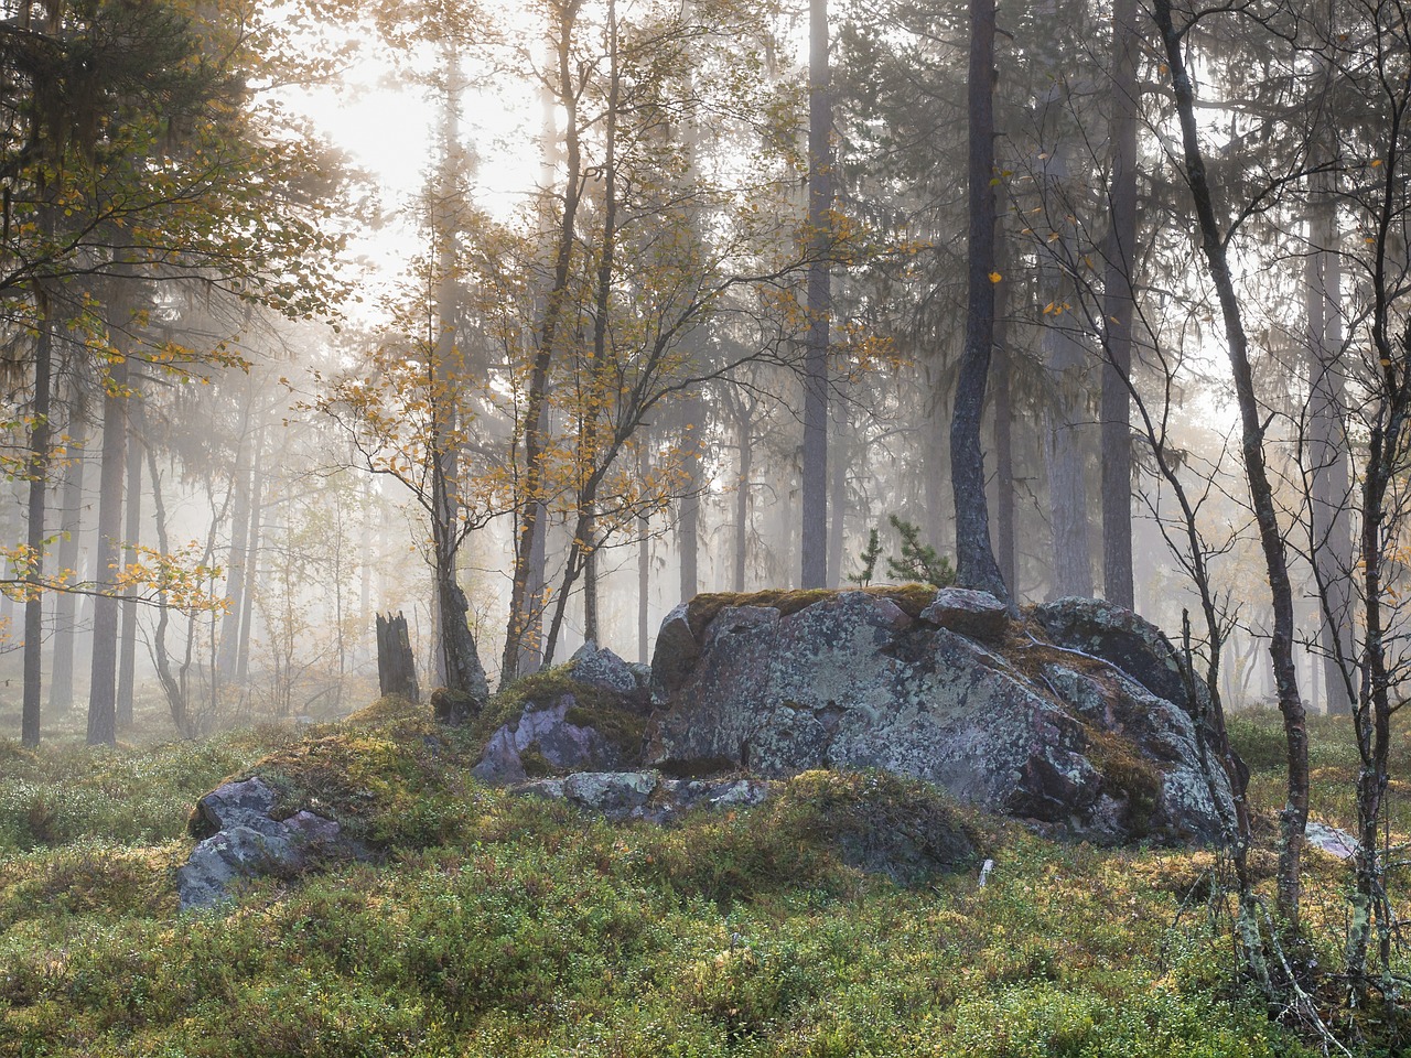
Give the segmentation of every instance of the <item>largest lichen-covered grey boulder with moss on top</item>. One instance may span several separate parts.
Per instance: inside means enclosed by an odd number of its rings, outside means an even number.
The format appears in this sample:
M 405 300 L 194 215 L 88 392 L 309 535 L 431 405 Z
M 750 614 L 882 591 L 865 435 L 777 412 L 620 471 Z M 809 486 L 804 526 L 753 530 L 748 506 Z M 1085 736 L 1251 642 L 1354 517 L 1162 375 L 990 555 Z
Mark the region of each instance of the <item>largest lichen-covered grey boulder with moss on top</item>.
M 1229 789 L 1206 779 L 1180 684 L 1160 679 L 1170 645 L 1132 615 L 1125 636 L 1055 649 L 1047 625 L 1013 625 L 981 595 L 941 591 L 920 609 L 878 591 L 801 607 L 701 597 L 658 642 L 646 760 L 691 777 L 875 767 L 1051 832 L 1216 837 Z

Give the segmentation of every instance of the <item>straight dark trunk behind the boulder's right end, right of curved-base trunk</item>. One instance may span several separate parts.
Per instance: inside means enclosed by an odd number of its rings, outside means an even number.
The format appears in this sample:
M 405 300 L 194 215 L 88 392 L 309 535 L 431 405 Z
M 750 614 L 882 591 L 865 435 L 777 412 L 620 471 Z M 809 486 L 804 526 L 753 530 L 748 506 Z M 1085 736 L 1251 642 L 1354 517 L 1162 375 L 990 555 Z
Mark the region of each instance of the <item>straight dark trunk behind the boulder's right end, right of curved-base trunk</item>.
M 1102 317 L 1102 592 L 1109 602 L 1136 605 L 1132 577 L 1132 274 L 1137 241 L 1137 4 L 1112 8 L 1112 229 L 1103 275 Z

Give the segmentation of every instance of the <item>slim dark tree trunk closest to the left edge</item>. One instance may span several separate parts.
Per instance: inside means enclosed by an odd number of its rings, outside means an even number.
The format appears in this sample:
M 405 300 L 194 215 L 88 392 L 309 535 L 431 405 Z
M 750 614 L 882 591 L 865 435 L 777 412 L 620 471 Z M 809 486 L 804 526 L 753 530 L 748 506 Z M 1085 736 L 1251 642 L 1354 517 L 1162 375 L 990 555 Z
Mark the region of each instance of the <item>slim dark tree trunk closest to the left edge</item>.
M 30 413 L 30 522 L 25 547 L 30 587 L 24 602 L 24 700 L 20 714 L 20 742 L 28 749 L 40 745 L 40 694 L 42 693 L 44 595 L 44 492 L 49 475 L 49 395 L 54 374 L 54 317 L 48 293 L 35 291 L 40 334 L 34 343 L 34 401 Z

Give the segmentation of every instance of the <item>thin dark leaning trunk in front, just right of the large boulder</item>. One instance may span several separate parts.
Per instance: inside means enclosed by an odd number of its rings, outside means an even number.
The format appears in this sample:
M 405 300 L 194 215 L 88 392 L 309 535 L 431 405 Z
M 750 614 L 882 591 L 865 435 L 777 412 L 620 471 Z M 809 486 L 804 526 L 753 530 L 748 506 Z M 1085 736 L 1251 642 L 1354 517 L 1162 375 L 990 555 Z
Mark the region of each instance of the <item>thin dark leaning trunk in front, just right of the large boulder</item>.
M 1235 395 L 1240 412 L 1240 451 L 1245 457 L 1245 477 L 1249 484 L 1250 504 L 1259 525 L 1259 539 L 1264 552 L 1264 566 L 1268 574 L 1270 598 L 1274 611 L 1273 633 L 1268 653 L 1274 669 L 1274 686 L 1278 694 L 1278 710 L 1284 717 L 1284 741 L 1287 745 L 1287 803 L 1280 813 L 1281 842 L 1278 852 L 1277 900 L 1291 932 L 1298 932 L 1298 906 L 1302 886 L 1304 829 L 1308 825 L 1308 731 L 1304 703 L 1298 694 L 1298 676 L 1294 669 L 1294 592 L 1288 577 L 1288 556 L 1284 550 L 1284 536 L 1274 506 L 1274 490 L 1268 481 L 1264 464 L 1263 412 L 1254 394 L 1254 378 L 1249 361 L 1249 339 L 1240 315 L 1239 298 L 1230 278 L 1226 258 L 1225 233 L 1216 220 L 1211 186 L 1205 175 L 1205 158 L 1201 151 L 1199 131 L 1195 121 L 1195 92 L 1185 69 L 1182 38 L 1171 17 L 1171 0 L 1156 0 L 1156 20 L 1165 45 L 1171 87 L 1175 96 L 1177 116 L 1181 121 L 1181 140 L 1185 155 L 1185 175 L 1195 203 L 1195 214 L 1201 229 L 1201 248 L 1205 254 L 1211 279 L 1219 296 L 1221 313 L 1225 320 L 1225 340 L 1230 370 L 1235 377 Z

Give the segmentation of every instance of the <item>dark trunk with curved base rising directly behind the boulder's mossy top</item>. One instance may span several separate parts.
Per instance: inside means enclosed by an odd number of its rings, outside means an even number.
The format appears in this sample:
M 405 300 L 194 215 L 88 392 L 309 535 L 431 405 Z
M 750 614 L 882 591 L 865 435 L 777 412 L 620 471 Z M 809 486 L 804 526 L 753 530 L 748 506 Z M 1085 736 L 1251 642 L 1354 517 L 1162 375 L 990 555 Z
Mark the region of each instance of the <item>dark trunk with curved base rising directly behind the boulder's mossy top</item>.
M 955 577 L 961 587 L 1009 601 L 989 540 L 985 454 L 979 444 L 995 340 L 995 0 L 971 0 L 969 52 L 969 300 L 965 350 L 951 418 Z M 1002 281 L 1002 279 L 1000 279 Z

